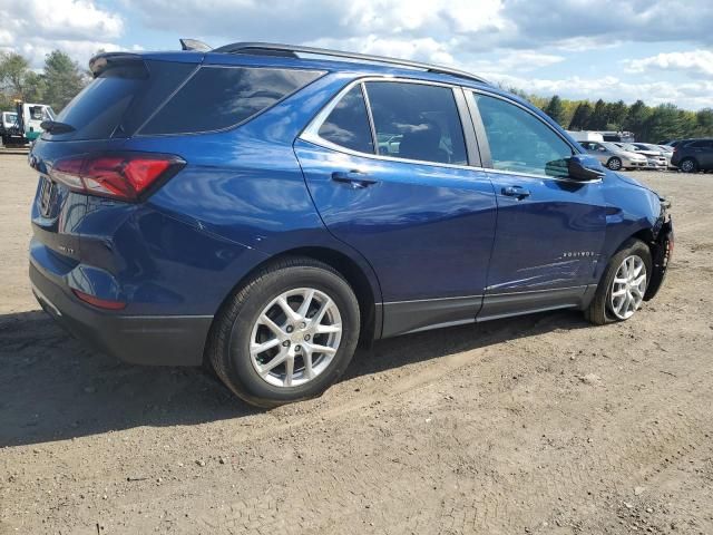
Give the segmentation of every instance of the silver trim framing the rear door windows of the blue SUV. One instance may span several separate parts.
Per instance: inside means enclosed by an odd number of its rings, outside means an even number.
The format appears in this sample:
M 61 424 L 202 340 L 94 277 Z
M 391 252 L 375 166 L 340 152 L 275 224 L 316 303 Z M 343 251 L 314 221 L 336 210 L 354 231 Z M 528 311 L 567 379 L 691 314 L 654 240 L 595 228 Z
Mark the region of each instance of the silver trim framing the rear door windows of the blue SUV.
M 375 129 L 375 127 L 373 125 L 373 116 L 371 114 L 371 103 L 368 100 L 369 91 L 367 90 L 367 88 L 364 86 L 369 81 L 419 84 L 421 86 L 437 86 L 437 87 L 446 87 L 446 88 L 450 89 L 452 91 L 453 101 L 456 104 L 456 109 L 458 111 L 458 119 L 460 120 L 460 128 L 461 128 L 462 134 L 463 134 L 463 143 L 466 145 L 466 155 L 467 155 L 469 164 L 468 165 L 447 164 L 447 163 L 442 163 L 442 162 L 429 162 L 427 159 L 400 158 L 398 156 L 384 156 L 382 154 L 377 154 L 377 150 L 378 150 L 377 129 Z M 371 127 L 371 132 L 372 132 L 372 139 L 374 139 L 374 153 L 373 154 L 371 154 L 371 153 L 362 153 L 360 150 L 353 150 L 351 148 L 343 147 L 342 145 L 338 145 L 338 144 L 332 143 L 332 142 L 330 142 L 328 139 L 324 139 L 319 134 L 320 128 L 322 127 L 322 124 L 326 120 L 326 118 L 330 116 L 332 110 L 336 107 L 336 105 L 344 97 L 344 95 L 346 95 L 356 85 L 361 85 L 362 91 L 367 97 L 367 99 L 365 99 L 367 114 L 369 115 L 369 118 L 370 118 L 370 127 Z M 478 152 L 477 152 L 478 150 L 478 144 L 477 144 L 477 138 L 476 138 L 475 134 L 473 134 L 472 138 L 470 139 L 470 142 L 476 140 L 476 146 L 473 147 L 469 143 L 469 136 L 468 136 L 468 133 L 467 133 L 467 128 L 468 128 L 468 126 L 472 126 L 472 123 L 471 123 L 472 118 L 470 118 L 468 116 L 463 117 L 463 115 L 462 115 L 463 110 L 461 109 L 461 106 L 458 105 L 458 91 L 459 90 L 462 91 L 462 87 L 458 86 L 458 85 L 443 84 L 443 82 L 431 81 L 431 80 L 418 80 L 418 79 L 413 79 L 413 78 L 399 78 L 399 77 L 394 77 L 394 76 L 367 76 L 367 77 L 356 78 L 354 80 L 351 80 L 349 84 L 346 84 L 342 89 L 340 89 L 340 91 L 334 97 L 332 97 L 332 99 L 326 105 L 324 105 L 324 107 L 314 116 L 314 118 L 307 124 L 307 126 L 297 136 L 297 139 L 302 139 L 303 142 L 312 143 L 312 144 L 318 145 L 320 147 L 329 148 L 330 150 L 335 150 L 338 153 L 344 153 L 344 154 L 349 154 L 351 156 L 361 156 L 361 157 L 365 157 L 365 158 L 380 159 L 380 160 L 383 160 L 383 162 L 400 162 L 400 163 L 406 163 L 406 164 L 432 165 L 432 166 L 436 166 L 436 167 L 450 167 L 450 168 L 453 168 L 453 169 L 485 171 L 480 166 L 471 165 L 471 163 L 473 163 L 473 160 L 476 160 L 476 162 L 479 160 L 480 156 L 478 155 Z M 475 150 L 475 153 L 473 153 L 473 150 Z M 478 155 L 477 159 L 473 158 L 471 156 L 471 154 Z

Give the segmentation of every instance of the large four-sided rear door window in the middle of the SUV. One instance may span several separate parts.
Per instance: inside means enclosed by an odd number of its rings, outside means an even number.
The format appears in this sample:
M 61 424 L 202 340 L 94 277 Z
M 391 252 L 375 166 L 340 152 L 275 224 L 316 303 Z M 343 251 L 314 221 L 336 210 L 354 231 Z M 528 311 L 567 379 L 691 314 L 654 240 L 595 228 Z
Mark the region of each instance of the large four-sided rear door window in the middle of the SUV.
M 398 81 L 364 84 L 378 154 L 467 165 L 466 142 L 452 89 Z

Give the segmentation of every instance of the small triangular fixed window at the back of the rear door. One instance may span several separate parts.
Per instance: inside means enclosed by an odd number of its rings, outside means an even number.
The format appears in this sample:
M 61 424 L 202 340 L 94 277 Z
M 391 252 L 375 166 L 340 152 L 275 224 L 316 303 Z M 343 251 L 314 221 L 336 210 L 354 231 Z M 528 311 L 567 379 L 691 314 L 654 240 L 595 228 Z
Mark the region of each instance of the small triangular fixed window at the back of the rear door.
M 373 154 L 374 144 L 361 85 L 352 87 L 341 98 L 320 126 L 319 135 L 335 145 Z

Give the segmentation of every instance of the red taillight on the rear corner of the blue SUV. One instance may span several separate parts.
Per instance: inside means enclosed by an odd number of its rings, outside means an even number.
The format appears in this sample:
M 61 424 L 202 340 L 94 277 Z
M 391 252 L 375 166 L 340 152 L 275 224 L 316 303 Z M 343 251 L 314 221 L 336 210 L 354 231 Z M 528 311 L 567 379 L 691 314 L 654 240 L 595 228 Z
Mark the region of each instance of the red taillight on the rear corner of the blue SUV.
M 185 164 L 177 156 L 163 154 L 89 155 L 56 162 L 49 176 L 77 192 L 138 201 L 152 186 L 175 175 Z

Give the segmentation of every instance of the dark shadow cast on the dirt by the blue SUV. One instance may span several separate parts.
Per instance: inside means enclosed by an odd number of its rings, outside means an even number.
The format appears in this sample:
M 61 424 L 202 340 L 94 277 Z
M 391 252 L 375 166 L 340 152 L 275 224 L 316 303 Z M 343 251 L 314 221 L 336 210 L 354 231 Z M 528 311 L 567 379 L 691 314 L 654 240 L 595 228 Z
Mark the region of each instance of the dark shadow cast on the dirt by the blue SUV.
M 374 342 L 342 380 L 587 323 L 575 311 L 519 317 Z M 41 311 L 0 315 L 0 447 L 139 426 L 260 414 L 201 368 L 131 366 L 98 353 Z

